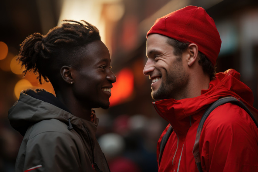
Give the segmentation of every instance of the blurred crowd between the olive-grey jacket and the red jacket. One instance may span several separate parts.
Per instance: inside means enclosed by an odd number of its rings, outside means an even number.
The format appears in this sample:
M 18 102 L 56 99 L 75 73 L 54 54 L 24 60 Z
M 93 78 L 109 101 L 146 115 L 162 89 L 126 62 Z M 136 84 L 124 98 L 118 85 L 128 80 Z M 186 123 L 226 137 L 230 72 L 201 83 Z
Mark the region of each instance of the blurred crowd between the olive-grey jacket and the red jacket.
M 159 119 L 144 115 L 101 115 L 97 138 L 112 172 L 158 171 L 156 146 L 165 128 Z

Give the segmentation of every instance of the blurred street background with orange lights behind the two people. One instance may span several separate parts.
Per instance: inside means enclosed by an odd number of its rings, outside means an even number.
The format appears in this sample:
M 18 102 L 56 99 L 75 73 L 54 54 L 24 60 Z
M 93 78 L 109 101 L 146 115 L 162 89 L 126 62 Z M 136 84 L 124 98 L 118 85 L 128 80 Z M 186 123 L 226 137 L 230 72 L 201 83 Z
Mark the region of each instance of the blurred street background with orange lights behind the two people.
M 146 33 L 154 21 L 187 5 L 203 7 L 214 19 L 222 46 L 217 72 L 234 68 L 254 94 L 258 108 L 257 0 L 1 0 L 0 1 L 0 171 L 13 171 L 22 136 L 10 127 L 8 109 L 27 88 L 44 88 L 34 74 L 21 74 L 19 44 L 35 32 L 46 34 L 62 19 L 97 26 L 111 55 L 117 82 L 110 108 L 96 109 L 97 138 L 113 172 L 158 171 L 156 144 L 167 122 L 155 112 L 151 81 L 143 75 Z

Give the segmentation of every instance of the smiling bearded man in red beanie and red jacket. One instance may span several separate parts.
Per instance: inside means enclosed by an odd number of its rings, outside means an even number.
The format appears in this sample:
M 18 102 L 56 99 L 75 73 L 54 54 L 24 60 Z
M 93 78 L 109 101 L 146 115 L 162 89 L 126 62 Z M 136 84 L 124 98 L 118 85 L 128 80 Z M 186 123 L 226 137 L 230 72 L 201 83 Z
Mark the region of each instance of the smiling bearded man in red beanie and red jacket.
M 247 112 L 258 113 L 253 93 L 237 71 L 216 74 L 220 46 L 215 23 L 201 7 L 171 12 L 147 33 L 143 72 L 159 100 L 156 111 L 169 122 L 158 141 L 159 172 L 258 171 L 257 123 Z M 228 96 L 237 104 L 224 103 L 201 120 L 210 104 Z

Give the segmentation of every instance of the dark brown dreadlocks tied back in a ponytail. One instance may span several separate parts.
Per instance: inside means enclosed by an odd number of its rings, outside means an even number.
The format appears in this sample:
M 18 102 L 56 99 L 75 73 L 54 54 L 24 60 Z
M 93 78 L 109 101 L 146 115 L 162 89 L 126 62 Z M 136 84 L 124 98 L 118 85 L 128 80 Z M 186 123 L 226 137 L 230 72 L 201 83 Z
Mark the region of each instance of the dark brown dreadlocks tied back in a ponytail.
M 80 47 L 100 40 L 97 27 L 84 20 L 80 22 L 63 20 L 63 22 L 65 23 L 61 26 L 50 29 L 46 35 L 34 33 L 28 36 L 20 45 L 17 60 L 25 66 L 23 74 L 32 71 L 37 75 L 40 84 L 42 78 L 49 82 L 53 74 L 59 73 L 63 65 L 78 63 L 75 54 Z

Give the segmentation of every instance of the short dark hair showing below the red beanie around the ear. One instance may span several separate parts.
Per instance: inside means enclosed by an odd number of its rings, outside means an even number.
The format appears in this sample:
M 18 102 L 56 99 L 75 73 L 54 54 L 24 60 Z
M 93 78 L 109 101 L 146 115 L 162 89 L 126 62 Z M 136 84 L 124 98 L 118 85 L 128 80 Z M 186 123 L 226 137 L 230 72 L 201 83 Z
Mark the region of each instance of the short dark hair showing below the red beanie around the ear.
M 189 43 L 183 43 L 170 37 L 168 37 L 167 43 L 174 47 L 175 56 L 181 56 L 189 45 Z M 198 57 L 198 63 L 202 66 L 204 73 L 209 75 L 210 80 L 215 78 L 216 66 L 212 65 L 212 62 L 200 51 L 198 52 Z

